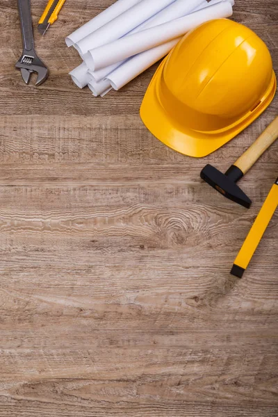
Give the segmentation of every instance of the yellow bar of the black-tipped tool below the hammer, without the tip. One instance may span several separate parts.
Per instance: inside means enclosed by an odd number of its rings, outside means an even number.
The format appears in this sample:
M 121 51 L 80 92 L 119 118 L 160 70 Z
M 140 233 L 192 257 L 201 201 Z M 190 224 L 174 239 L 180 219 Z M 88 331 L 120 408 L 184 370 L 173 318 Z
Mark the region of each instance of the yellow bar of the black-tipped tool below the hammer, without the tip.
M 241 247 L 240 252 L 234 262 L 234 265 L 239 266 L 245 270 L 249 265 L 252 256 L 256 250 L 256 247 L 259 245 L 261 238 L 265 232 L 265 229 L 268 227 L 272 215 L 275 213 L 275 210 L 278 206 L 278 179 L 274 186 L 272 186 L 268 197 L 263 203 L 263 207 L 259 212 L 258 217 L 256 218 L 252 229 L 250 230 L 243 247 Z

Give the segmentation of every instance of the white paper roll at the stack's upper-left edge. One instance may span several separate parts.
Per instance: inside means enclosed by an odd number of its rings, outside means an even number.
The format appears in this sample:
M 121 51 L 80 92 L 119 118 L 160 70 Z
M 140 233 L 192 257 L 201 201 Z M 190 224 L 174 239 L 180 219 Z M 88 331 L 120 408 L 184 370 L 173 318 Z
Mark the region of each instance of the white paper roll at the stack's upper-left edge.
M 90 33 L 96 31 L 104 24 L 111 22 L 115 17 L 122 15 L 126 10 L 135 6 L 141 0 L 117 0 L 112 6 L 106 8 L 103 12 L 99 13 L 96 17 L 89 22 L 83 24 L 80 28 L 76 29 L 71 35 L 65 38 L 65 43 L 68 47 L 72 47 L 73 44 L 79 42 L 79 40 L 90 35 Z

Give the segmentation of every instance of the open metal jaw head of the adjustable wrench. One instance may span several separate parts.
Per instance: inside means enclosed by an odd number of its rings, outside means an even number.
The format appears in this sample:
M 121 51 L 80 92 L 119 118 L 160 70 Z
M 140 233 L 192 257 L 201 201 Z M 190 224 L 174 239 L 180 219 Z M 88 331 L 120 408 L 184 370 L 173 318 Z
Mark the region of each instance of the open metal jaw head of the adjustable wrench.
M 47 67 L 44 65 L 42 60 L 36 56 L 36 54 L 22 54 L 22 56 L 15 64 L 15 67 L 17 70 L 20 70 L 22 79 L 27 85 L 31 80 L 31 74 L 33 72 L 38 74 L 37 80 L 35 82 L 36 86 L 44 83 L 49 74 Z

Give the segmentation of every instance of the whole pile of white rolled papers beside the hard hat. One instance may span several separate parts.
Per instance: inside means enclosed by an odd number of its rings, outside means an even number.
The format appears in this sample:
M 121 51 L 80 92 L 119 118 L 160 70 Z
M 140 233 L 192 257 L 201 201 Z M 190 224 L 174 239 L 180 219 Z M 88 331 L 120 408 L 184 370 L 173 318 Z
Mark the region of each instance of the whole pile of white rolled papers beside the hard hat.
M 230 17 L 232 6 L 234 0 L 117 0 L 65 39 L 83 60 L 70 76 L 104 97 L 167 55 L 188 31 Z

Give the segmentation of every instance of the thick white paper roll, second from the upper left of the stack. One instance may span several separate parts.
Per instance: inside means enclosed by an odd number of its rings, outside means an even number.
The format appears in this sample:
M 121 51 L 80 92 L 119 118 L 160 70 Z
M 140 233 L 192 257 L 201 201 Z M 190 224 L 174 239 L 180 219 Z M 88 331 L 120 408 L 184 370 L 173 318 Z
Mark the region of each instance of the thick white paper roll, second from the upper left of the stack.
M 74 47 L 84 58 L 89 49 L 95 49 L 121 38 L 173 2 L 174 0 L 141 0 L 140 3 L 126 10 L 122 15 L 115 17 L 97 31 L 76 42 Z

